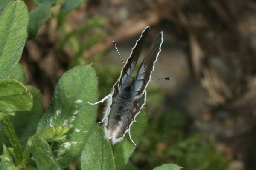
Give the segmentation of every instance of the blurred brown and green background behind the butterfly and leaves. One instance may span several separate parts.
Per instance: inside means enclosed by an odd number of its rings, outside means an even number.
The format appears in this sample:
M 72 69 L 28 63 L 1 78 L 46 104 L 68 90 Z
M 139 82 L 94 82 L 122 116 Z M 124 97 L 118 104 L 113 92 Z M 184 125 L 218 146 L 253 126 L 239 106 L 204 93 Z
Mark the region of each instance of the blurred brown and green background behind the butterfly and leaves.
M 25 2 L 29 11 L 36 7 Z M 253 0 L 87 0 L 66 14 L 55 6 L 26 42 L 20 63 L 28 84 L 41 89 L 46 109 L 65 71 L 93 63 L 102 99 L 123 66 L 112 41 L 126 61 L 148 25 L 139 63 L 163 31 L 152 78 L 172 79 L 148 85 L 148 125 L 126 169 L 175 163 L 184 170 L 255 170 Z

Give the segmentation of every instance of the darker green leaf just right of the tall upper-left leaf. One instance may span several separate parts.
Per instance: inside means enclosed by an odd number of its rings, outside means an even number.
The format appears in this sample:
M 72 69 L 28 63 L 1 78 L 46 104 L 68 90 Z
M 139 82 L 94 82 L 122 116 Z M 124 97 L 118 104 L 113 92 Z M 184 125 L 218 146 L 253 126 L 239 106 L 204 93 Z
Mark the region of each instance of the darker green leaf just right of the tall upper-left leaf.
M 38 29 L 50 17 L 51 3 L 43 3 L 29 12 L 28 40 L 35 38 Z

